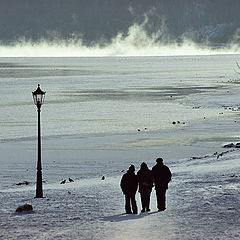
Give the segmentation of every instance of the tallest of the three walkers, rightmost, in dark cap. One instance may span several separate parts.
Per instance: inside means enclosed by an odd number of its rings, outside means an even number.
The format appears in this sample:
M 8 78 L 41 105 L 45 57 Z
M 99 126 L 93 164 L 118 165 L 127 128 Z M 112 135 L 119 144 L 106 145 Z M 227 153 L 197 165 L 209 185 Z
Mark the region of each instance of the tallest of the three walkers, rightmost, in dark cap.
M 166 191 L 168 183 L 171 181 L 172 173 L 169 168 L 163 164 L 162 158 L 157 158 L 157 164 L 152 168 L 153 180 L 157 196 L 158 211 L 166 209 Z

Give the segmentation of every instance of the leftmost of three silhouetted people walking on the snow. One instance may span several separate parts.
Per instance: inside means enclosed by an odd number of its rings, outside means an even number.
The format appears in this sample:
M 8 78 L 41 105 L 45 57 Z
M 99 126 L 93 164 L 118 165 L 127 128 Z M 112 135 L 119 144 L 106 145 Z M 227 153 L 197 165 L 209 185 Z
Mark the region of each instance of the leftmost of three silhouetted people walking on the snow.
M 135 167 L 134 165 L 131 165 L 127 173 L 122 176 L 120 183 L 123 194 L 125 195 L 125 210 L 127 214 L 137 214 L 135 195 L 138 188 L 138 180 L 134 172 Z

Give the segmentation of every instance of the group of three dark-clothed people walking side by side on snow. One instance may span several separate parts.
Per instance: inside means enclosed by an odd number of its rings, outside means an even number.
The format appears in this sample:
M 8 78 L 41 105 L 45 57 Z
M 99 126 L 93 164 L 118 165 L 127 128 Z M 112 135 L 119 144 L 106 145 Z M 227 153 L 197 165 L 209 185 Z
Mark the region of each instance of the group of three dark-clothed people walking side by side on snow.
M 138 191 L 141 196 L 141 212 L 150 211 L 150 195 L 153 184 L 156 190 L 158 211 L 166 209 L 166 190 L 168 189 L 168 183 L 171 181 L 172 173 L 163 164 L 162 158 L 157 158 L 156 162 L 157 164 L 152 170 L 143 162 L 137 175 L 135 174 L 134 165 L 131 165 L 127 173 L 122 176 L 120 186 L 125 195 L 125 210 L 127 214 L 137 214 L 138 212 L 135 199 L 137 189 L 139 189 Z

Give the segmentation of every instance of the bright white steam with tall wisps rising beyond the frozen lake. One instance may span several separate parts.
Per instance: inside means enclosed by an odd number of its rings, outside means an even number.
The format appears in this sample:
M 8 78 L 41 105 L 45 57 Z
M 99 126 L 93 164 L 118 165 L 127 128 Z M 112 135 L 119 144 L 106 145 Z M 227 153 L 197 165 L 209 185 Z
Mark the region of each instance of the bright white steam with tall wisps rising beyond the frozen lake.
M 211 55 L 211 54 L 239 54 L 235 45 L 209 48 L 198 45 L 189 39 L 181 44 L 169 41 L 163 26 L 157 32 L 147 33 L 145 25 L 129 27 L 127 33 L 118 33 L 108 44 L 86 46 L 77 37 L 71 40 L 53 41 L 42 40 L 38 43 L 21 39 L 13 45 L 0 46 L 0 57 L 106 57 L 106 56 L 177 56 L 177 55 Z M 160 40 L 162 39 L 162 41 Z

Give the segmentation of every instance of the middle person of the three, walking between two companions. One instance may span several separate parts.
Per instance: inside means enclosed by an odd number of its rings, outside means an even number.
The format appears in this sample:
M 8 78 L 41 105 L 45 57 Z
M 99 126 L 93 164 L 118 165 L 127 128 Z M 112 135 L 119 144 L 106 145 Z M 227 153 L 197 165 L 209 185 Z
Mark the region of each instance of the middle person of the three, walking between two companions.
M 140 170 L 137 172 L 137 177 L 139 183 L 138 191 L 140 192 L 142 202 L 141 212 L 149 212 L 150 195 L 153 187 L 153 177 L 151 170 L 149 170 L 145 162 L 141 164 Z

